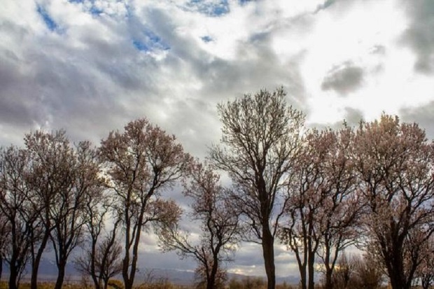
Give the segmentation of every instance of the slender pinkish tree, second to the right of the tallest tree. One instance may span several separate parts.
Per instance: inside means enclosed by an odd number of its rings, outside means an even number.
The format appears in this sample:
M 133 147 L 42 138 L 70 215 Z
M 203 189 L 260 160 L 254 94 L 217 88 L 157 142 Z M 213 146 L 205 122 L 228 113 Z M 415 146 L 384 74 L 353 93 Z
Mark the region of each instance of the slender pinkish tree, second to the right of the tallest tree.
M 318 232 L 321 234 L 318 256 L 325 268 L 325 289 L 332 289 L 335 264 L 345 248 L 356 243 L 360 234 L 360 218 L 364 204 L 357 194 L 357 178 L 353 168 L 353 129 L 326 129 L 316 135 L 318 144 L 326 148 L 321 162 L 323 203 L 320 208 Z

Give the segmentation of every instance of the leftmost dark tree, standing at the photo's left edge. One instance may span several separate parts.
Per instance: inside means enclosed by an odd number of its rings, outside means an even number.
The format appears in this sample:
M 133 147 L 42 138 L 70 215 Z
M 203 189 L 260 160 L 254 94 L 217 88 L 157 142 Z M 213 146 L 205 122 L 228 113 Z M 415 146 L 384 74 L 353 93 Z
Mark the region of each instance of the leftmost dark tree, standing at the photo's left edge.
M 1 226 L 7 234 L 1 236 L 1 254 L 10 269 L 9 288 L 16 289 L 29 260 L 37 213 L 29 202 L 25 182 L 29 158 L 25 150 L 15 146 L 0 150 L 0 210 Z

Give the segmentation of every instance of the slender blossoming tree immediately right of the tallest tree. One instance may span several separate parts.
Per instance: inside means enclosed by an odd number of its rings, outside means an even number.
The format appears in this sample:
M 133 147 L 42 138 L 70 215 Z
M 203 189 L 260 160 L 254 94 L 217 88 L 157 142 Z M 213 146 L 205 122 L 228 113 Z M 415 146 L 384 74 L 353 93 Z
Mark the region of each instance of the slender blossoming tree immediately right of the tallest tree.
M 284 211 L 288 218 L 279 227 L 279 239 L 295 253 L 302 289 L 314 288 L 315 256 L 322 237 L 318 224 L 329 189 L 321 167 L 326 162 L 328 145 L 318 141 L 319 137 L 314 130 L 304 139 L 288 182 L 290 198 Z

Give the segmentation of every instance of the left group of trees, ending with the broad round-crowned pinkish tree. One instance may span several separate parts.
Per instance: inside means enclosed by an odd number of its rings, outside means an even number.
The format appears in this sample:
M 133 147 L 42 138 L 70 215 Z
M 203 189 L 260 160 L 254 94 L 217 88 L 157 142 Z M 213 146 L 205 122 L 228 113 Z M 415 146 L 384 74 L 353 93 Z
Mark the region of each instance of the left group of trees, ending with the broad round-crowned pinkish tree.
M 97 149 L 87 141 L 73 146 L 64 131 L 36 131 L 25 136 L 25 148 L 1 148 L 0 255 L 10 268 L 9 288 L 18 288 L 27 264 L 37 288 L 47 246 L 55 252 L 55 288 L 62 288 L 71 252 L 85 241 L 76 263 L 95 288 L 106 288 L 118 273 L 132 288 L 141 232 L 179 219 L 179 207 L 160 192 L 192 163 L 174 136 L 146 119 L 111 132 Z

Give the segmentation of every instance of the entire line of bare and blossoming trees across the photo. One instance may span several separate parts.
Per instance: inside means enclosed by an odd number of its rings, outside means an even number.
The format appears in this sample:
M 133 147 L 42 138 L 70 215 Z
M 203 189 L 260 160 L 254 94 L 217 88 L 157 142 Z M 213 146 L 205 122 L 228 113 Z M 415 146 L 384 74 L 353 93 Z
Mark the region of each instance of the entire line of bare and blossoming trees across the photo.
M 122 274 L 131 289 L 141 236 L 197 261 L 199 288 L 222 288 L 241 241 L 260 244 L 267 288 L 274 246 L 295 255 L 303 289 L 338 288 L 342 258 L 357 246 L 393 289 L 434 279 L 434 144 L 392 115 L 358 127 L 309 129 L 282 88 L 218 105 L 222 138 L 205 162 L 146 118 L 110 132 L 98 147 L 38 130 L 0 149 L 0 258 L 18 288 L 26 265 L 36 289 L 46 248 L 62 288 L 67 262 L 106 288 Z M 230 178 L 223 185 L 219 172 Z M 181 184 L 190 209 L 169 199 Z M 199 237 L 181 225 L 189 218 Z M 78 257 L 71 253 L 80 247 Z M 1 270 L 0 270 L 1 276 Z M 340 282 L 340 281 L 339 281 Z M 341 282 L 342 283 L 342 282 Z

